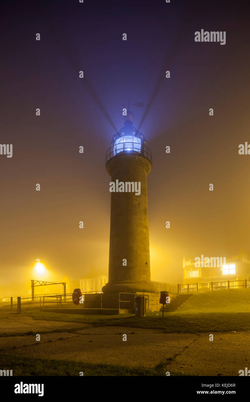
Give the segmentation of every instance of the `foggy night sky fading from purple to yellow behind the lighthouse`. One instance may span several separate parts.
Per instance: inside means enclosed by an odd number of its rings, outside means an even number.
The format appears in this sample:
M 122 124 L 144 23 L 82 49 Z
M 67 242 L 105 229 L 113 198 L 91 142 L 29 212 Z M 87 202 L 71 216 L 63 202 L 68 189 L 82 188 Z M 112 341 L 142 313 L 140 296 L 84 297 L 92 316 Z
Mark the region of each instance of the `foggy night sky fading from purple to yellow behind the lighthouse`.
M 250 251 L 246 2 L 12 1 L 2 16 L 2 284 L 31 279 L 37 258 L 55 279 L 108 273 L 105 153 L 128 100 L 144 103 L 131 110 L 152 151 L 151 279 L 181 282 L 184 255 Z M 201 29 L 226 31 L 226 44 L 196 43 Z

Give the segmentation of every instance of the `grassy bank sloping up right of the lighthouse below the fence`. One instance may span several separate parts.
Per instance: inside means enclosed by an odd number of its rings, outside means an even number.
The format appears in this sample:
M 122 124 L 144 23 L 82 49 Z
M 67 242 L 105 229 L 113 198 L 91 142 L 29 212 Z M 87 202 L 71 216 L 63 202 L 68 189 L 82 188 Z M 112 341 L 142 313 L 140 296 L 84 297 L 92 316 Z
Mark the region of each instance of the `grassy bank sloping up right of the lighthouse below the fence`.
M 26 314 L 34 320 L 78 322 L 91 326 L 124 326 L 160 329 L 163 332 L 249 331 L 250 289 L 221 289 L 194 293 L 175 312 L 147 313 L 146 317 L 134 314 L 114 316 L 76 315 L 53 313 L 35 308 Z

